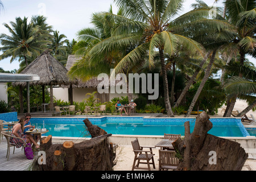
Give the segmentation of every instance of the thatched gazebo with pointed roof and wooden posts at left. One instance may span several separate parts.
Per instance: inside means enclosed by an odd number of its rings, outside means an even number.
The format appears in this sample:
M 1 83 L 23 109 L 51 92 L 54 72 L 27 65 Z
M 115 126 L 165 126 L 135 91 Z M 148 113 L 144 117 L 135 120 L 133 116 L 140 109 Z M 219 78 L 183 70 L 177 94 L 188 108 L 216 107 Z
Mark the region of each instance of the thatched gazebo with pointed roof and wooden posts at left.
M 51 53 L 49 53 L 49 51 L 44 51 L 40 56 L 38 56 L 34 61 L 32 61 L 32 63 L 30 63 L 20 73 L 36 74 L 40 77 L 40 80 L 32 81 L 30 82 L 30 84 L 43 86 L 43 102 L 44 102 L 44 85 L 50 86 L 51 111 L 53 111 L 52 86 L 53 85 L 70 85 L 75 82 L 75 81 L 72 81 L 67 76 L 68 70 L 60 63 L 60 61 L 56 60 L 55 57 L 53 57 Z M 28 82 L 15 82 L 14 85 L 26 86 L 27 83 Z

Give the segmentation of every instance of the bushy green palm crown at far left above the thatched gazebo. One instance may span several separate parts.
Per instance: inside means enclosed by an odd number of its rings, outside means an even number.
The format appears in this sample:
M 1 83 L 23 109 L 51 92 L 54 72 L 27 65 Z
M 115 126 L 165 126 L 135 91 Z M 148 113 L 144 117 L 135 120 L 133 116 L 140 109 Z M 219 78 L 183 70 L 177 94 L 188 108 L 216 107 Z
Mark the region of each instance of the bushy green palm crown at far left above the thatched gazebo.
M 33 23 L 27 23 L 27 18 L 20 17 L 15 19 L 15 22 L 3 25 L 8 28 L 11 35 L 1 34 L 0 41 L 3 47 L 0 50 L 3 54 L 0 55 L 0 60 L 7 57 L 11 57 L 10 63 L 16 58 L 23 58 L 28 65 L 27 57 L 34 57 L 40 55 L 40 53 L 50 43 L 46 40 L 45 34 L 38 34 L 39 26 L 33 26 Z

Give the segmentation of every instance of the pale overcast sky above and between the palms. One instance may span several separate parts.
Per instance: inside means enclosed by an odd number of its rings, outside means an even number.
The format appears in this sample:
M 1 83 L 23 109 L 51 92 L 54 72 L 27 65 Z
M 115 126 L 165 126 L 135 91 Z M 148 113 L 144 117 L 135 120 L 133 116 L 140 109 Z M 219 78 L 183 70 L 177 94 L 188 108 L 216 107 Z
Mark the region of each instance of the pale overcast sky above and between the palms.
M 3 23 L 9 24 L 15 21 L 16 17 L 29 20 L 32 15 L 44 15 L 47 17 L 47 23 L 53 26 L 53 30 L 58 30 L 60 34 L 67 36 L 68 40 L 76 39 L 76 32 L 81 28 L 92 27 L 90 18 L 92 13 L 100 11 L 108 11 L 110 5 L 113 5 L 114 13 L 117 8 L 113 0 L 1 0 L 4 9 L 0 11 L 0 34 L 9 34 Z M 214 5 L 214 0 L 205 0 L 209 6 Z M 219 1 L 217 6 L 222 6 Z M 184 10 L 181 14 L 191 9 L 190 5 L 195 0 L 187 0 L 184 2 Z M 216 4 L 215 4 L 216 5 Z M 0 45 L 1 46 L 1 45 Z M 0 52 L 1 53 L 1 52 Z M 256 60 L 251 60 L 256 65 Z M 0 61 L 0 68 L 6 71 L 19 68 L 19 62 L 10 59 Z

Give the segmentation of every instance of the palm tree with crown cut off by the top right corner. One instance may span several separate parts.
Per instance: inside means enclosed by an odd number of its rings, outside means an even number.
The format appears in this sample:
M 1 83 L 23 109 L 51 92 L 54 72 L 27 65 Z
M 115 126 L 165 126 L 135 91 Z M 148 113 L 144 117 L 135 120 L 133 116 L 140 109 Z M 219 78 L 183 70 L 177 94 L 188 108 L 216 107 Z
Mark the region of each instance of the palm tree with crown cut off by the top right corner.
M 231 40 L 237 45 L 240 54 L 240 64 L 243 65 L 246 54 L 255 56 L 256 2 L 254 0 L 225 1 L 226 18 L 236 27 L 236 36 Z M 242 77 L 242 73 L 240 73 Z M 224 117 L 230 117 L 237 96 L 228 102 Z

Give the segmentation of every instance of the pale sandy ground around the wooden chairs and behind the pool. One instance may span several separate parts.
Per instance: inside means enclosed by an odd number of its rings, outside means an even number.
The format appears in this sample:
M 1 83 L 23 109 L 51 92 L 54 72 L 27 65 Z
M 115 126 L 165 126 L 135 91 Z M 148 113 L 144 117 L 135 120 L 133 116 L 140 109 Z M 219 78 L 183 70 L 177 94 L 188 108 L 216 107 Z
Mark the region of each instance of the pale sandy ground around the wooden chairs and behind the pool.
M 225 107 L 225 106 L 224 106 Z M 222 107 L 222 108 L 224 108 Z M 237 100 L 236 105 L 234 106 L 234 110 L 240 110 L 242 111 L 247 107 L 247 103 L 241 100 Z M 218 114 L 210 117 L 222 117 L 224 114 L 224 111 L 221 112 L 221 109 L 219 109 Z M 254 115 L 254 118 L 256 118 L 256 111 L 250 110 L 249 113 L 247 113 L 247 117 L 251 117 L 250 114 Z M 183 115 L 176 115 L 175 117 L 183 117 Z M 155 169 L 151 165 L 151 170 L 152 171 L 157 171 L 158 170 L 158 150 L 159 148 L 153 149 L 153 153 L 155 154 L 154 160 L 155 160 Z M 129 146 L 118 146 L 117 150 L 117 164 L 114 166 L 115 171 L 131 171 L 131 168 L 133 166 L 133 160 L 134 160 L 134 152 L 133 148 L 131 145 Z M 142 167 L 147 167 L 146 164 L 141 164 Z M 143 166 L 144 165 L 144 166 Z M 245 165 L 242 168 L 243 171 L 256 171 L 256 160 L 254 159 L 247 159 L 245 162 Z M 138 171 L 136 169 L 135 171 Z

